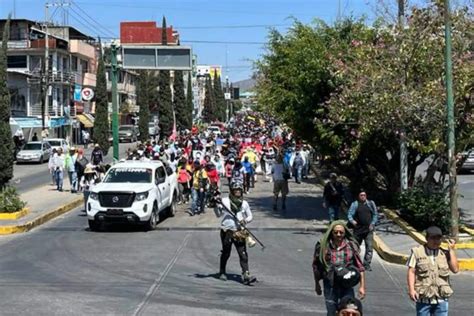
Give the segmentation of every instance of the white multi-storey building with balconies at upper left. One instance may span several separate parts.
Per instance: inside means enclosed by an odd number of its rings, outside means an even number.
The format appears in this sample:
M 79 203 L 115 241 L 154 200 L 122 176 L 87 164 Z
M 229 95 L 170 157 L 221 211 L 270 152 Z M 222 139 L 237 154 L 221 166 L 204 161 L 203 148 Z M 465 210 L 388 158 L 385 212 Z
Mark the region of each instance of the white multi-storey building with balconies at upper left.
M 0 20 L 1 30 L 5 22 Z M 48 25 L 46 32 L 44 25 L 32 20 L 13 19 L 10 23 L 7 71 L 11 114 L 25 137 L 29 139 L 43 127 L 50 137 L 73 137 L 78 134 L 73 134 L 73 127 L 92 127 L 93 117 L 83 117 L 83 113 L 92 112 L 93 106 L 74 99 L 74 90 L 95 87 L 94 39 L 69 26 Z M 43 110 L 44 104 L 47 108 Z

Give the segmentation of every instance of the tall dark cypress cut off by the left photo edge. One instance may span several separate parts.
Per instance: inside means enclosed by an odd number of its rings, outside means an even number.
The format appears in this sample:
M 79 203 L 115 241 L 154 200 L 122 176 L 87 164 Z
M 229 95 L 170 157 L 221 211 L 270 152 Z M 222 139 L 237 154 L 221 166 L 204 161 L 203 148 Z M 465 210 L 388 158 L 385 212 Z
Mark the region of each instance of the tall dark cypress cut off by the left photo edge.
M 0 51 L 0 189 L 13 178 L 13 138 L 10 130 L 10 91 L 7 81 L 7 48 L 10 16 L 3 29 Z

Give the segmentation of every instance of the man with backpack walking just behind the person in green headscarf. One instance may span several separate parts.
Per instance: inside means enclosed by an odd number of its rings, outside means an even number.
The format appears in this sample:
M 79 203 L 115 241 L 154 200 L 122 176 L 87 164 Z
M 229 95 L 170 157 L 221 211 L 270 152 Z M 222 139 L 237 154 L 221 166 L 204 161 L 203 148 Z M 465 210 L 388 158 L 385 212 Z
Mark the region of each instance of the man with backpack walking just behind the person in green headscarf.
M 365 270 L 371 271 L 370 263 L 372 262 L 374 229 L 378 219 L 377 206 L 375 202 L 367 199 L 365 190 L 359 190 L 357 201 L 352 202 L 347 219 L 354 227 L 354 236 L 362 245 L 365 243 L 364 267 Z

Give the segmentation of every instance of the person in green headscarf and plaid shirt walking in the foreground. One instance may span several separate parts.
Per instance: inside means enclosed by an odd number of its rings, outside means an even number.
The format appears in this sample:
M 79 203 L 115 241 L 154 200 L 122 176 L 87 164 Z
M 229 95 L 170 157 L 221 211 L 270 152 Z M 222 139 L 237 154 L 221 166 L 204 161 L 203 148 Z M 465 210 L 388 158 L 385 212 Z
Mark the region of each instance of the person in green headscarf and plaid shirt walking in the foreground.
M 315 291 L 324 293 L 328 316 L 334 316 L 342 298 L 354 297 L 359 284 L 359 298 L 365 297 L 364 266 L 359 256 L 359 245 L 344 221 L 332 222 L 313 255 Z M 323 280 L 323 289 L 320 281 Z

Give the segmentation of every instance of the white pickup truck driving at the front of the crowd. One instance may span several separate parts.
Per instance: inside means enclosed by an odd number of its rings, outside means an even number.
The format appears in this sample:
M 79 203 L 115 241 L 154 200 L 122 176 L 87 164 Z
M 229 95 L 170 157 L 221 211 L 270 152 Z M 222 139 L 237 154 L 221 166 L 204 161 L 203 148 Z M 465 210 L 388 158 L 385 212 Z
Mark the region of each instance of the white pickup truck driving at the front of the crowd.
M 174 216 L 177 198 L 176 174 L 161 161 L 117 163 L 89 194 L 89 228 L 96 231 L 103 223 L 128 222 L 153 230 L 163 215 Z

